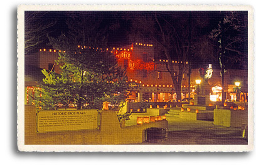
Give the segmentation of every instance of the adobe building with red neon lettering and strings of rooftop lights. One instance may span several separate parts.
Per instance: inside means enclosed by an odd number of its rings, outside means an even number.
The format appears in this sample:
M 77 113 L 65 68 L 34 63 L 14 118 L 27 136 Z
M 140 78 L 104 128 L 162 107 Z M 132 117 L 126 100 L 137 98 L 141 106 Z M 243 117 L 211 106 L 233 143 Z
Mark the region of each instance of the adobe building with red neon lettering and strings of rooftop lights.
M 188 65 L 188 62 L 179 62 L 155 59 L 154 46 L 147 43 L 132 43 L 119 48 L 107 48 L 117 58 L 117 63 L 127 70 L 129 91 L 131 95 L 127 98 L 130 102 L 166 102 L 176 101 L 176 91 L 170 73 L 166 70 L 166 63 L 171 63 L 178 68 L 179 63 Z M 40 49 L 38 53 L 25 55 L 25 104 L 33 103 L 33 86 L 40 87 L 42 79 L 45 78 L 41 70 L 60 73 L 60 67 L 56 65 L 58 53 L 64 50 Z M 178 71 L 178 70 L 177 70 Z M 208 80 L 211 94 L 214 100 L 221 101 L 221 88 L 224 88 L 227 100 L 247 100 L 248 78 L 247 70 L 228 70 L 225 73 L 225 86 L 221 87 L 220 70 L 213 68 L 212 76 Z M 176 73 L 174 73 L 175 75 Z M 195 95 L 196 80 L 200 78 L 198 69 L 191 71 L 190 93 Z M 235 81 L 240 81 L 240 88 L 245 92 L 237 96 Z M 181 85 L 181 95 L 188 98 L 188 74 L 184 73 Z

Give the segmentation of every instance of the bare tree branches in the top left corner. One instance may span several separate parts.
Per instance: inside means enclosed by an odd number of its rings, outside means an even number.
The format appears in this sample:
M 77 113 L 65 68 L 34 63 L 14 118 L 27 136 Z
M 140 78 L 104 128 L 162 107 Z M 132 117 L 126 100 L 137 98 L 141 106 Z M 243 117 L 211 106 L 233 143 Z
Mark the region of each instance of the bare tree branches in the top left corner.
M 43 43 L 46 35 L 50 33 L 51 28 L 56 21 L 42 21 L 47 12 L 25 11 L 24 19 L 24 45 L 25 54 L 35 49 L 35 47 Z

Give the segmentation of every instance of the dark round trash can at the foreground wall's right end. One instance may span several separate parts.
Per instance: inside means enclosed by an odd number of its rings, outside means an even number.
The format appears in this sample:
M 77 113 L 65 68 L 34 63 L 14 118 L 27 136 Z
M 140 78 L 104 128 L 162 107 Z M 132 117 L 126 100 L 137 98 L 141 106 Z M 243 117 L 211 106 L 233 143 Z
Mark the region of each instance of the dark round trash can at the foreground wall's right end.
M 166 138 L 166 129 L 151 127 L 146 129 L 147 142 L 160 142 Z

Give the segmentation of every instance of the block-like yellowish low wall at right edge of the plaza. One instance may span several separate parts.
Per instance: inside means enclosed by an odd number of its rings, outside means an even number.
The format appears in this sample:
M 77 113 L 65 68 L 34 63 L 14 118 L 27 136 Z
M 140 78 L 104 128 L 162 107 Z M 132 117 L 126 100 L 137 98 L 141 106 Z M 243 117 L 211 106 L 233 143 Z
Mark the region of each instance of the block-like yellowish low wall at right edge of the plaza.
M 214 125 L 222 125 L 226 127 L 242 127 L 248 123 L 247 110 L 214 110 Z

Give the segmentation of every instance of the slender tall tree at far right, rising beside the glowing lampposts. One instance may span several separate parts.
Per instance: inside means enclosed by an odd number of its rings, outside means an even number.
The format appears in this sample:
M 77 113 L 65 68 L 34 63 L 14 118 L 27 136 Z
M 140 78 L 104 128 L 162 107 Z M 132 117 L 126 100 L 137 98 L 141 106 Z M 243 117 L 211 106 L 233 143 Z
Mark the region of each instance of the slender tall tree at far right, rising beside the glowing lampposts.
M 210 38 L 218 42 L 221 86 L 224 87 L 224 73 L 228 67 L 236 65 L 236 68 L 241 68 L 247 56 L 247 14 L 237 11 L 221 11 L 218 27 L 211 31 Z M 224 88 L 222 94 L 224 94 Z M 222 102 L 224 101 L 223 95 Z

